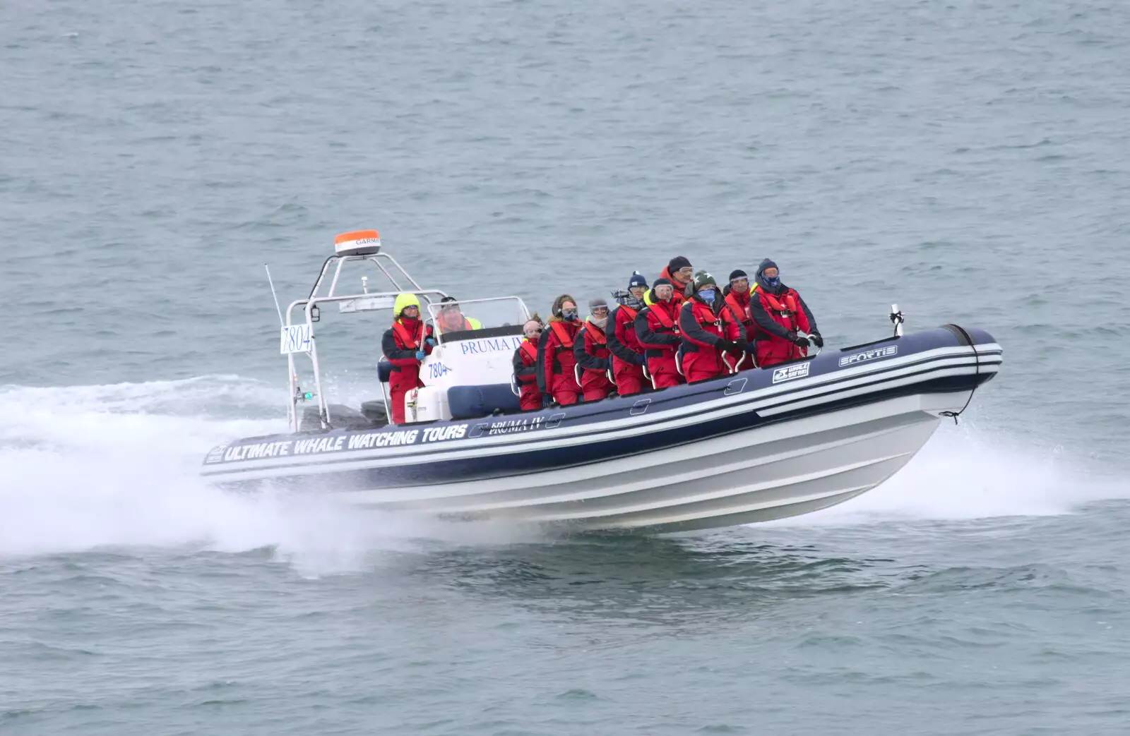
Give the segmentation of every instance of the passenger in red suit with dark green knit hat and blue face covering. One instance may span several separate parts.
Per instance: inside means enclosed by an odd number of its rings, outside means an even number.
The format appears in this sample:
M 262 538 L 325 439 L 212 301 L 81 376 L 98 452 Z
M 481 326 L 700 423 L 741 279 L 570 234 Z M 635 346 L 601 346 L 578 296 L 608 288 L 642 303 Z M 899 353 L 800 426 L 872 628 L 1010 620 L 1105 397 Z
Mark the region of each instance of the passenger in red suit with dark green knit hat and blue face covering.
M 690 296 L 679 309 L 679 330 L 683 333 L 683 375 L 688 384 L 727 375 L 729 366 L 745 356 L 741 325 L 719 298 L 714 277 L 705 271 L 695 274 Z

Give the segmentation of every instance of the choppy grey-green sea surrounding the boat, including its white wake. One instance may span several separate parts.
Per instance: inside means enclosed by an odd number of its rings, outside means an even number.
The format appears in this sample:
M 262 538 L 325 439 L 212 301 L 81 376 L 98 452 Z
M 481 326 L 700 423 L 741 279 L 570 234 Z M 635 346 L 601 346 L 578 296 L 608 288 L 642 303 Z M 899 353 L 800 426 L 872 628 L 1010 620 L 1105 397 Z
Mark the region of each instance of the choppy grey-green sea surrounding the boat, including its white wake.
M 0 3 L 0 734 L 1130 734 L 1130 5 Z M 542 313 L 770 256 L 989 330 L 878 489 L 668 537 L 225 496 L 268 263 Z M 375 395 L 379 334 L 328 367 Z

